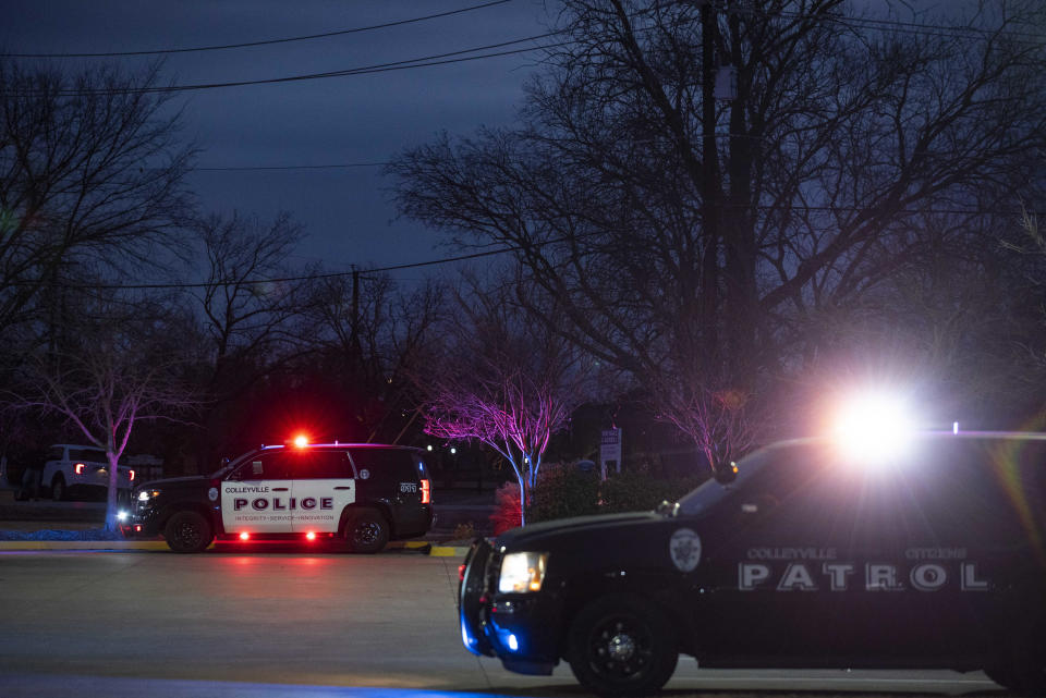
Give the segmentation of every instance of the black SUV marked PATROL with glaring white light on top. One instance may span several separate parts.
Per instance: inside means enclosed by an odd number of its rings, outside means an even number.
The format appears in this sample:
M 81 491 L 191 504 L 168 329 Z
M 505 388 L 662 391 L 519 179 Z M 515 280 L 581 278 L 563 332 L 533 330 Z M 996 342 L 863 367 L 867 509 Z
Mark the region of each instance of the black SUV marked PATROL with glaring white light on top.
M 1046 436 L 765 448 L 656 512 L 472 544 L 465 647 L 603 695 L 708 668 L 984 670 L 1046 690 Z

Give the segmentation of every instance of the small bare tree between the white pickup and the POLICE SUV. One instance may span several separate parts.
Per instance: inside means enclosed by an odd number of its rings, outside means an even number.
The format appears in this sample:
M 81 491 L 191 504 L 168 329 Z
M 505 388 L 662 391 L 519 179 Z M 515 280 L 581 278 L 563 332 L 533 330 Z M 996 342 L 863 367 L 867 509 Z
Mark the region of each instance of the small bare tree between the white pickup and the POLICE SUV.
M 115 530 L 117 464 L 143 420 L 174 420 L 199 402 L 186 380 L 190 321 L 169 299 L 102 301 L 84 308 L 77 346 L 39 352 L 23 366 L 9 406 L 58 415 L 109 461 L 106 528 Z

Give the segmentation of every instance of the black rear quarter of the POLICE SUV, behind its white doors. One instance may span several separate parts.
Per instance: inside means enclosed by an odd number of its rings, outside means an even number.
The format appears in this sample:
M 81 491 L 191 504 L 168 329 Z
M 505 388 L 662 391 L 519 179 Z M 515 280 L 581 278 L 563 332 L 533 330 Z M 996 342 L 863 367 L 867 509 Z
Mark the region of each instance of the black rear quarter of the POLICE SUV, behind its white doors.
M 388 506 L 397 535 L 425 531 L 431 480 L 421 455 L 412 449 L 381 448 L 357 448 L 351 454 L 360 475 L 360 499 Z

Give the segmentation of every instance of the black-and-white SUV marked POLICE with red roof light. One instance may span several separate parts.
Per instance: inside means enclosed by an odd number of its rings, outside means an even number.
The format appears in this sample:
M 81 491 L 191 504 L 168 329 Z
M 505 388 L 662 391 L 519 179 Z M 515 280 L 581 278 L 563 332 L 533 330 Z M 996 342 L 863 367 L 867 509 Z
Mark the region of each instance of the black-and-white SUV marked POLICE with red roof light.
M 220 540 L 343 540 L 378 552 L 425 535 L 435 518 L 422 451 L 375 444 L 263 446 L 210 476 L 134 490 L 129 536 L 162 534 L 175 552 Z

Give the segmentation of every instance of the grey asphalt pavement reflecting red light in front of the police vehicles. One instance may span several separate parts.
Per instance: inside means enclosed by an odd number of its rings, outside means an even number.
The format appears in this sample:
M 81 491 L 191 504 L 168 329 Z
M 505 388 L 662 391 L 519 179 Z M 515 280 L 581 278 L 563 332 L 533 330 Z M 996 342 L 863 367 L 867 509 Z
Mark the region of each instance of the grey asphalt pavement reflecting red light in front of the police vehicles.
M 0 696 L 583 696 L 461 647 L 457 559 L 0 553 Z M 740 672 L 681 661 L 668 695 L 993 693 L 982 674 Z

